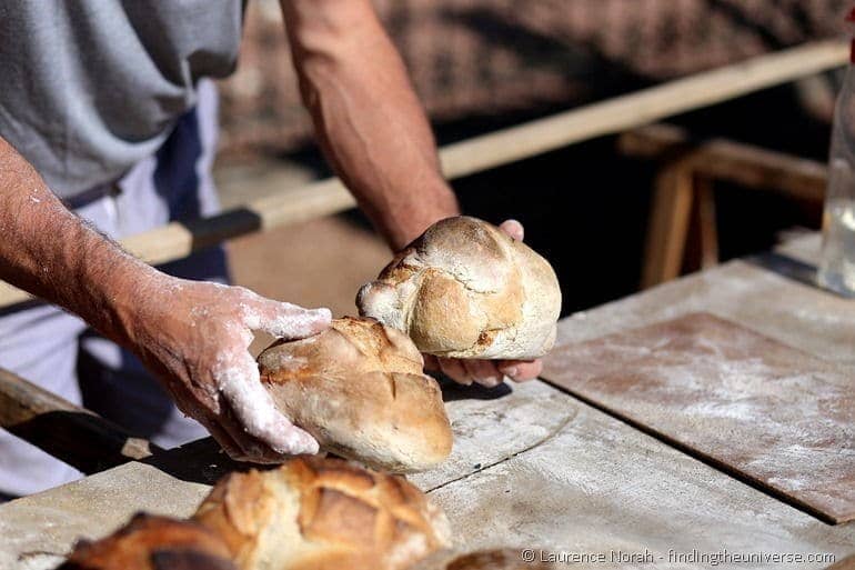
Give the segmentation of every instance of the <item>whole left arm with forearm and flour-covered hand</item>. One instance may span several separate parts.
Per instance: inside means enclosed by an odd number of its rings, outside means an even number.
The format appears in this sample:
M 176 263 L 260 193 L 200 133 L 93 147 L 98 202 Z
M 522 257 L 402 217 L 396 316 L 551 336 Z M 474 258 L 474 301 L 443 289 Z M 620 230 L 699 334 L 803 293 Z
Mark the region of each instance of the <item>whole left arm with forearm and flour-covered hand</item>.
M 289 338 L 320 332 L 329 310 L 157 271 L 67 210 L 2 138 L 0 279 L 137 353 L 232 457 L 275 461 L 318 450 L 276 411 L 247 348 L 253 329 Z

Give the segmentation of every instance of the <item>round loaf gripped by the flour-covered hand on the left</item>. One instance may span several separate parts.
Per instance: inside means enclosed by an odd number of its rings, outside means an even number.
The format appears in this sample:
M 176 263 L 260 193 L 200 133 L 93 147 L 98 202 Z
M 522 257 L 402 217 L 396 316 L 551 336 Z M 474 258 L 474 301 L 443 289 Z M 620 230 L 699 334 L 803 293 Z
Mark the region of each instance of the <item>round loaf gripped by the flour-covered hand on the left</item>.
M 258 360 L 279 410 L 328 451 L 393 472 L 429 469 L 451 452 L 440 387 L 398 330 L 345 317 Z

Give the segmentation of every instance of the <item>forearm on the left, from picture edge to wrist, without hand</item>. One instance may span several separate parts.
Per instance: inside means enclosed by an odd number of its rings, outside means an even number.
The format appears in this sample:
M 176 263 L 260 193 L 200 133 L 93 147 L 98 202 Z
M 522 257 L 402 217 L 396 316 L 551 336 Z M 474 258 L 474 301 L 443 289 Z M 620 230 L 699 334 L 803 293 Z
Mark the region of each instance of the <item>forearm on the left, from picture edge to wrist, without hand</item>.
M 0 279 L 124 342 L 128 291 L 152 272 L 66 209 L 0 138 Z

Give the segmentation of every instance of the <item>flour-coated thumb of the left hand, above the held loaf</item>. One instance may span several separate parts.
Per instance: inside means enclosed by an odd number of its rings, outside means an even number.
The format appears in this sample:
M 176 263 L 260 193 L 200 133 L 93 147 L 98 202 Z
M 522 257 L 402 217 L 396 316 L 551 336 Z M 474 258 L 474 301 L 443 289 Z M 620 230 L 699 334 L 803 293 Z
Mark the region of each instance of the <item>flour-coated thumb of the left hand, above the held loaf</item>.
M 244 290 L 241 310 L 247 327 L 263 330 L 276 338 L 304 339 L 330 328 L 330 309 L 304 309 L 296 304 L 273 301 Z

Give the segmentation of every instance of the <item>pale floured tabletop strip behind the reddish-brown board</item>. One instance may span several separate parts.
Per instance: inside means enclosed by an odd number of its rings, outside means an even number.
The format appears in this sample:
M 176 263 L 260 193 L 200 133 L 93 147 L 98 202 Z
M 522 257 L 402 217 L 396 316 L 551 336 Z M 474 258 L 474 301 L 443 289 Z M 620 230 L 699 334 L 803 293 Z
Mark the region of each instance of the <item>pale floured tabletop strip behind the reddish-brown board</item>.
M 801 259 L 793 261 L 813 262 L 818 242 L 808 238 L 808 243 L 809 254 L 801 247 L 789 247 L 788 250 L 799 251 Z M 855 372 L 855 302 L 770 271 L 761 261 L 731 261 L 572 314 L 559 323 L 556 346 L 698 311 L 711 312 Z

